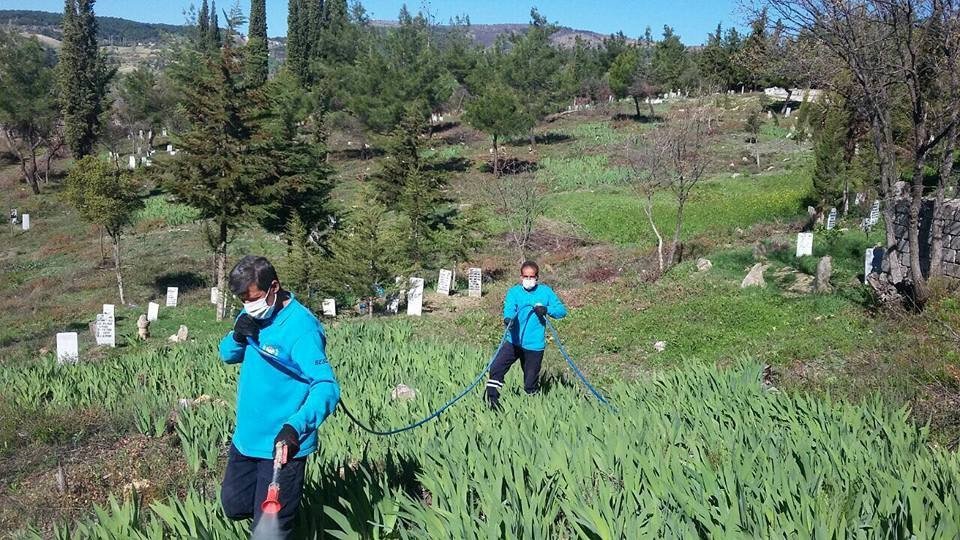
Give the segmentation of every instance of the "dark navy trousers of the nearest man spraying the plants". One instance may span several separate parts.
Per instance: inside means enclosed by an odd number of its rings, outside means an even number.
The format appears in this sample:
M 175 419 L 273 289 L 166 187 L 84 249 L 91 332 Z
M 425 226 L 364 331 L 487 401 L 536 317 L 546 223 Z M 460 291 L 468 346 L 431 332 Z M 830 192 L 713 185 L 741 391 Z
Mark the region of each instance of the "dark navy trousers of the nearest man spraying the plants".
M 277 524 L 284 538 L 290 537 L 293 518 L 300 507 L 306 464 L 307 458 L 291 459 L 280 469 L 277 478 L 281 505 Z M 267 498 L 267 487 L 272 479 L 272 459 L 247 457 L 231 444 L 227 472 L 223 475 L 223 484 L 220 486 L 223 512 L 233 520 L 253 518 L 253 530 L 260 521 L 260 505 Z

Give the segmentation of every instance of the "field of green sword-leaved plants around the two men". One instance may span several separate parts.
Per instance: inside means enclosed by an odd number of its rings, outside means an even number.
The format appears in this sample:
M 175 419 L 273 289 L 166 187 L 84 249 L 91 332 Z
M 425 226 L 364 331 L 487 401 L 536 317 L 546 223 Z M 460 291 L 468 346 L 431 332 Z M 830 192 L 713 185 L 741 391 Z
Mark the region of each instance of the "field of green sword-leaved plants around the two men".
M 560 326 L 561 334 L 564 327 Z M 491 335 L 490 342 L 496 341 Z M 375 427 L 424 416 L 492 351 L 419 338 L 410 325 L 329 332 L 344 400 Z M 136 349 L 99 363 L 52 358 L 0 370 L 15 405 L 98 406 L 150 437 L 175 437 L 196 475 L 182 496 L 113 499 L 57 538 L 245 538 L 210 478 L 233 422 L 236 367 L 215 342 Z M 614 414 L 564 377 L 541 395 L 508 376 L 505 410 L 479 391 L 439 420 L 392 438 L 337 413 L 320 429 L 299 515 L 306 538 L 956 538 L 960 458 L 879 400 L 857 406 L 762 384 L 749 361 L 691 365 L 604 390 Z M 391 402 L 398 383 L 416 388 Z M 209 395 L 183 408 L 181 399 Z M 222 401 L 221 401 L 222 400 Z M 206 480 L 205 480 L 206 479 Z M 21 537 L 40 537 L 39 531 Z

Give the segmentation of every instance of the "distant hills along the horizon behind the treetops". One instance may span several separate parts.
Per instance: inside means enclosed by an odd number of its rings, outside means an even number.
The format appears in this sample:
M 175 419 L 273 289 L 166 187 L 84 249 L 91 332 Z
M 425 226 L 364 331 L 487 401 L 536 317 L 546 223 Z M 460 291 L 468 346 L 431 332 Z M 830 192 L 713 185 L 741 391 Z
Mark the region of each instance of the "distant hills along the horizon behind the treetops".
M 59 40 L 63 37 L 60 26 L 61 17 L 60 13 L 46 11 L 0 10 L 0 27 L 13 26 L 24 33 L 39 34 Z M 143 23 L 117 17 L 97 17 L 97 24 L 101 45 L 120 47 L 138 43 L 160 44 L 168 36 L 186 36 L 191 30 L 182 25 Z M 372 21 L 371 24 L 389 28 L 396 26 L 397 22 Z M 500 34 L 523 33 L 527 27 L 526 24 L 475 24 L 470 26 L 470 35 L 480 45 L 489 47 Z M 444 27 L 441 26 L 439 29 L 443 31 Z M 561 27 L 551 39 L 558 46 L 573 47 L 577 37 L 587 44 L 599 44 L 606 36 L 588 30 Z M 286 42 L 283 38 L 272 38 L 271 41 L 281 47 Z

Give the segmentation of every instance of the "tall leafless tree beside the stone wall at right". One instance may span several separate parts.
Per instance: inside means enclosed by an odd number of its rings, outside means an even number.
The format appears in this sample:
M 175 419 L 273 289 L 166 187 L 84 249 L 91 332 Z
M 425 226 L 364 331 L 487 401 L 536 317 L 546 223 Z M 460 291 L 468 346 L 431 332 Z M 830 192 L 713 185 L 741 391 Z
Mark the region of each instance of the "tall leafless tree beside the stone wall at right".
M 956 0 L 758 0 L 754 4 L 772 9 L 785 31 L 813 36 L 844 68 L 841 78 L 855 81 L 870 120 L 880 191 L 887 202 L 884 218 L 894 282 L 904 278 L 898 272 L 901 254 L 893 227 L 893 199 L 899 162 L 908 161 L 904 168 L 910 171 L 912 190 L 907 264 L 914 300 L 923 305 L 929 294 L 919 249 L 923 171 L 937 147 L 947 147 L 945 157 L 952 154 L 960 108 L 955 88 L 947 90 L 947 95 L 930 89 L 956 71 Z M 949 82 L 943 85 L 950 87 Z M 894 118 L 901 116 L 909 122 L 905 136 L 894 125 Z M 942 208 L 942 197 L 938 199 L 935 205 Z

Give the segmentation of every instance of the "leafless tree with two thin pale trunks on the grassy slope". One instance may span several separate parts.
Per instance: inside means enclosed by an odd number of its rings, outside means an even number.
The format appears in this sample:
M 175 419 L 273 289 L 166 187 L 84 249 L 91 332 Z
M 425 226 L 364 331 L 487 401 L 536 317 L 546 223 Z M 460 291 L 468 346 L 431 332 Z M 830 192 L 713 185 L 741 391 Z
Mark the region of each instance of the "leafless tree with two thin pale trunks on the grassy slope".
M 682 253 L 683 213 L 709 161 L 710 131 L 707 125 L 710 118 L 710 111 L 703 104 L 678 111 L 666 124 L 657 127 L 628 151 L 633 171 L 630 184 L 641 196 L 644 214 L 657 237 L 661 272 L 679 262 L 677 255 Z M 653 198 L 661 191 L 670 192 L 676 201 L 673 238 L 666 257 L 663 235 L 653 219 Z

